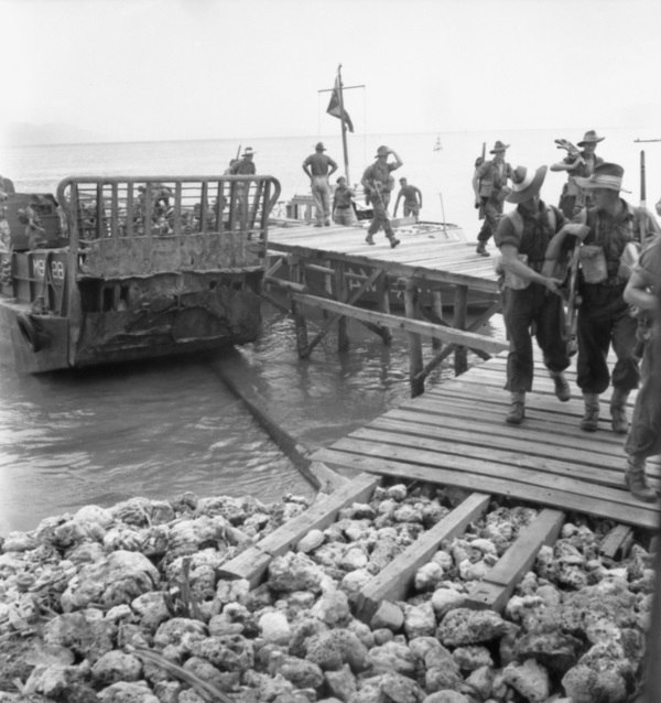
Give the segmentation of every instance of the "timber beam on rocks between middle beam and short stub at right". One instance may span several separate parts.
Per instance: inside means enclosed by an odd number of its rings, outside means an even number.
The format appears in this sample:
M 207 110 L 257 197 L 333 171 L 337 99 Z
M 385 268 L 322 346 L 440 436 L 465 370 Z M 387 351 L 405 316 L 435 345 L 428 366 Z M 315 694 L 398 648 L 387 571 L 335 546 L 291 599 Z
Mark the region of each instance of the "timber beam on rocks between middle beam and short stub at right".
M 540 548 L 552 544 L 564 522 L 560 510 L 545 509 L 519 534 L 481 582 L 468 593 L 466 607 L 501 610 L 521 577 L 530 571 Z

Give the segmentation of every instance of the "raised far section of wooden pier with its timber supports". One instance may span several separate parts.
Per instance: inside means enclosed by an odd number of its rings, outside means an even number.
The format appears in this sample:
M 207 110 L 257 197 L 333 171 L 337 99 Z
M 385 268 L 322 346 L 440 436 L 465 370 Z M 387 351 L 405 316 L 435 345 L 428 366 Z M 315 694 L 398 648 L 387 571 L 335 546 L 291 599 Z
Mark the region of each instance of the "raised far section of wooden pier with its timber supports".
M 403 329 L 409 336 L 411 394 L 415 397 L 424 391 L 429 374 L 451 355 L 459 375 L 468 368 L 468 349 L 488 359 L 508 348 L 506 342 L 477 332 L 500 312 L 497 277 L 494 260 L 476 256 L 458 228 L 404 227 L 398 230 L 401 244 L 395 249 L 381 232 L 375 246 L 366 244 L 365 235 L 359 226 L 269 229 L 266 283 L 289 295 L 301 358 L 308 357 L 335 324 L 338 350 L 346 350 L 348 318 L 378 334 L 384 344 L 392 329 Z M 325 314 L 312 339 L 306 306 Z M 446 318 L 448 309 L 452 313 Z M 470 323 L 469 309 L 478 310 Z M 432 339 L 433 348 L 426 363 L 425 337 Z

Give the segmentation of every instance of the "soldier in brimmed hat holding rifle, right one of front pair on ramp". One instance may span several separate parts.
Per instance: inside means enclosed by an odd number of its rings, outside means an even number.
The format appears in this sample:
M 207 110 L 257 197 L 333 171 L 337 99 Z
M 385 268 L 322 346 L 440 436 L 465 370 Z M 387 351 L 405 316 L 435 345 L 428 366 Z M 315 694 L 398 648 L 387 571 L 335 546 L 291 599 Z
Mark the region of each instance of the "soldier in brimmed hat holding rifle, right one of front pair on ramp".
M 651 213 L 620 197 L 624 173 L 619 164 L 602 163 L 590 176 L 576 179 L 594 202 L 579 215 L 586 227 L 579 250 L 576 382 L 583 391 L 581 429 L 586 432 L 598 429 L 599 394 L 613 383 L 610 424 L 614 432 L 625 434 L 627 400 L 640 380 L 635 352 L 638 323 L 624 299 L 630 274 L 630 268 L 624 264 L 625 255 L 636 242 L 641 246 L 661 230 Z M 606 360 L 610 346 L 617 357 L 613 372 Z

